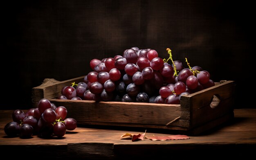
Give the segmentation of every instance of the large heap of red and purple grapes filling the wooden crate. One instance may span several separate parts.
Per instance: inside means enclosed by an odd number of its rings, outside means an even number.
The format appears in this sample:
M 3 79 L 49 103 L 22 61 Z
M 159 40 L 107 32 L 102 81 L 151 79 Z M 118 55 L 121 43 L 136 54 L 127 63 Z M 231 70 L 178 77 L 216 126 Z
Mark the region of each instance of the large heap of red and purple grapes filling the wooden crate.
M 57 99 L 180 104 L 180 96 L 215 85 L 200 66 L 184 68 L 179 60 L 164 61 L 156 50 L 137 47 L 92 59 L 84 81 L 63 87 Z

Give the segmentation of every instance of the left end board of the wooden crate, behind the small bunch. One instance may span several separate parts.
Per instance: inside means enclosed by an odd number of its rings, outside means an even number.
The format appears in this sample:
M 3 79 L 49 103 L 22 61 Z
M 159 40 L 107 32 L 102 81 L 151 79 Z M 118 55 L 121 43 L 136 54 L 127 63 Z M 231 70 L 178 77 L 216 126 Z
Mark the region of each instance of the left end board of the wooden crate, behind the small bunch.
M 42 85 L 32 88 L 32 103 L 33 107 L 37 107 L 40 99 L 53 99 L 61 94 L 61 89 L 64 86 L 71 85 L 72 82 L 82 82 L 85 76 L 69 79 L 66 81 L 56 81 L 55 79 L 45 79 Z

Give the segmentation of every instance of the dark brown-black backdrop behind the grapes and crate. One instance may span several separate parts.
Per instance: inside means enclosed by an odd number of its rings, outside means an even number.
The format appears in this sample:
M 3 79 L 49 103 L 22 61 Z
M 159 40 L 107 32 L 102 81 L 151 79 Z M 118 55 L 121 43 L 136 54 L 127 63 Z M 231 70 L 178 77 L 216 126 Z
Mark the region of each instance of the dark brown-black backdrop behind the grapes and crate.
M 2 2 L 1 2 L 2 3 Z M 236 108 L 255 108 L 254 5 L 228 0 L 19 0 L 1 4 L 1 108 L 31 108 L 45 78 L 86 75 L 93 58 L 137 46 L 236 82 Z

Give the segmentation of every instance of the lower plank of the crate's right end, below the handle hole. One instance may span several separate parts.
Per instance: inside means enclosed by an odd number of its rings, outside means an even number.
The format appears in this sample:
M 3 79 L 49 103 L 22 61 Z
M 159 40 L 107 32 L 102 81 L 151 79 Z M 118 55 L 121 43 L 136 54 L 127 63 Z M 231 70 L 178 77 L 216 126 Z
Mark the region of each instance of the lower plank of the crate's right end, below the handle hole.
M 210 105 L 201 107 L 192 111 L 191 127 L 199 126 L 209 121 L 212 121 L 220 116 L 233 112 L 234 98 L 224 99 L 220 101 L 219 105 L 215 108 L 211 108 Z

